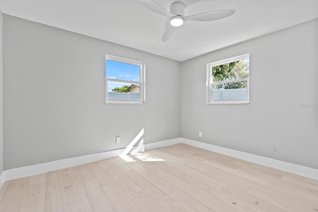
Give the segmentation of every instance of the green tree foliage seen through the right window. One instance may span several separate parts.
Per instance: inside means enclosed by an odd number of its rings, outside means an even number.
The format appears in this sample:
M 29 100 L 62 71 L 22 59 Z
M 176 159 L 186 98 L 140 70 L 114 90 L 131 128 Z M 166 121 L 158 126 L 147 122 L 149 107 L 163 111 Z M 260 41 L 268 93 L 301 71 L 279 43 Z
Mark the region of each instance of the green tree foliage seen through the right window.
M 235 61 L 212 68 L 213 81 L 224 81 L 238 78 L 245 78 L 249 75 L 249 64 L 242 61 Z M 225 84 L 215 84 L 214 89 L 236 89 L 246 88 L 246 81 L 229 82 Z

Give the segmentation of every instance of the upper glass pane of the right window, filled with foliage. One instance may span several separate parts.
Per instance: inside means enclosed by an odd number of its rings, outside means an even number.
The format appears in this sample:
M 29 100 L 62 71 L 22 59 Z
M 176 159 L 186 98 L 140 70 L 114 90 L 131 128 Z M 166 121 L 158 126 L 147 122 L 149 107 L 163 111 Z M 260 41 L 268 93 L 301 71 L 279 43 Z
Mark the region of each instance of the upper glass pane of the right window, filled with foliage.
M 213 66 L 211 71 L 214 82 L 245 78 L 249 75 L 249 59 Z

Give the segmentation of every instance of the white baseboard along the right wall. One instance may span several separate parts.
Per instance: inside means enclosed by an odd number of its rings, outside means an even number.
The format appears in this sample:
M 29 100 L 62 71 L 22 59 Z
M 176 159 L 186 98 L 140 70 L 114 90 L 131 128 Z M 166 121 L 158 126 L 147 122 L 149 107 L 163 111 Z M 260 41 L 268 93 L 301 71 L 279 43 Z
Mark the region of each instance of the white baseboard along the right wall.
M 255 154 L 250 154 L 234 149 L 229 149 L 189 139 L 182 138 L 182 143 L 318 180 L 318 170 L 306 166 L 296 165 L 293 163 L 288 163 L 280 160 L 271 159 L 268 157 L 258 156 Z

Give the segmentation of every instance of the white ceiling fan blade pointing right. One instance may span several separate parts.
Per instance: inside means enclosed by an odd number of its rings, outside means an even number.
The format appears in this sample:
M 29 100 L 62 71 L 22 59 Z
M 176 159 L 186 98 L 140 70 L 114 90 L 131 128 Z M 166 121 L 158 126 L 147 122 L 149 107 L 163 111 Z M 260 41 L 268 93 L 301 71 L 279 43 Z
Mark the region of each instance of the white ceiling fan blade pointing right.
M 195 15 L 184 16 L 184 20 L 193 21 L 213 21 L 229 17 L 235 13 L 235 9 L 216 10 L 209 12 L 202 12 Z

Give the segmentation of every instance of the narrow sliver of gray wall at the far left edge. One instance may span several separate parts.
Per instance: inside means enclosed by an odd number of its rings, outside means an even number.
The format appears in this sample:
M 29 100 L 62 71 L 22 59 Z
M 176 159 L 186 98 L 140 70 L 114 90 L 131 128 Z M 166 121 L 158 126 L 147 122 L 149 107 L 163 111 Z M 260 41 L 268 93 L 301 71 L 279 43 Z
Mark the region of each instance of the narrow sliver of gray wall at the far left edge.
M 0 10 L 0 174 L 3 171 L 2 12 Z

